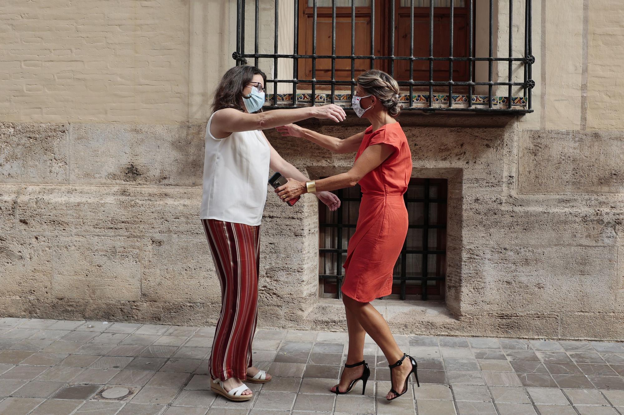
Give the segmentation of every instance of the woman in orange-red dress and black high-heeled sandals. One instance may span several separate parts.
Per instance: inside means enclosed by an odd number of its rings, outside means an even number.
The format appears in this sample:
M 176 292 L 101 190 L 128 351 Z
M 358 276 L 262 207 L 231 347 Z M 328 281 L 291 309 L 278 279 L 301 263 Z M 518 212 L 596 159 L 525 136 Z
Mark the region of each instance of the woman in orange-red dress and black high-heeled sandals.
M 412 173 L 412 156 L 401 125 L 394 119 L 401 111 L 396 81 L 386 72 L 371 69 L 358 77 L 356 90 L 353 109 L 358 117 L 371 122 L 362 133 L 341 140 L 294 124 L 278 127 L 282 135 L 303 137 L 336 153 L 357 150 L 353 167 L 347 173 L 316 181 L 288 179 L 285 186 L 275 191 L 288 201 L 303 193 L 360 184 L 363 196 L 358 225 L 349 240 L 343 265 L 349 352 L 340 383 L 331 390 L 348 393 L 361 380 L 364 393 L 370 374 L 364 361 L 364 336 L 368 333 L 388 362 L 396 362 L 390 365 L 392 388 L 386 395 L 391 400 L 407 391 L 409 376 L 416 376 L 416 361 L 401 351 L 388 323 L 371 301 L 392 291 L 392 270 L 407 235 L 403 194 Z

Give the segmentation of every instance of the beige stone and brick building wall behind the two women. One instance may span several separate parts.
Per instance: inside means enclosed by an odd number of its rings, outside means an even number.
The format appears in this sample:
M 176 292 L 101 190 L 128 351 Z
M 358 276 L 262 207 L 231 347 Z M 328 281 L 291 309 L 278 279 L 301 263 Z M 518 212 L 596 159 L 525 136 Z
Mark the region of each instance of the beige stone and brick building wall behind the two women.
M 35 3 L 0 11 L 0 315 L 214 323 L 203 131 L 233 64 L 235 2 Z M 378 302 L 393 330 L 624 340 L 613 7 L 534 0 L 534 113 L 401 116 L 412 176 L 449 181 L 448 275 L 444 304 Z M 353 163 L 266 134 L 311 178 Z M 286 208 L 268 192 L 261 326 L 345 329 L 341 302 L 318 298 L 317 217 L 313 197 Z

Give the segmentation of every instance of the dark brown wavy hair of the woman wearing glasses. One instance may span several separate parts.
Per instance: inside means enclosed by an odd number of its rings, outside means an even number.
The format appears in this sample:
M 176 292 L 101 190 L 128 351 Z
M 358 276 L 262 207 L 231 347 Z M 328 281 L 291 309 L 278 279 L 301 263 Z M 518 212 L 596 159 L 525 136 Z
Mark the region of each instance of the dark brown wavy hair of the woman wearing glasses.
M 255 66 L 240 65 L 228 69 L 217 85 L 215 98 L 212 102 L 212 112 L 223 108 L 235 108 L 244 111 L 243 89 L 253 80 L 254 75 L 262 75 L 262 83 L 266 87 L 265 73 Z M 261 111 L 262 109 L 257 112 Z

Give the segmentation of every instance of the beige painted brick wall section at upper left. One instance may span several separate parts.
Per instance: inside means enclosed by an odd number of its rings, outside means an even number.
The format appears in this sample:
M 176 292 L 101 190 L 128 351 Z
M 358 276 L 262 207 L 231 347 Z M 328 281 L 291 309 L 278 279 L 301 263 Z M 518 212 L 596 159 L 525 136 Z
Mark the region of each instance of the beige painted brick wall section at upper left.
M 6 121 L 188 119 L 188 1 L 4 0 Z

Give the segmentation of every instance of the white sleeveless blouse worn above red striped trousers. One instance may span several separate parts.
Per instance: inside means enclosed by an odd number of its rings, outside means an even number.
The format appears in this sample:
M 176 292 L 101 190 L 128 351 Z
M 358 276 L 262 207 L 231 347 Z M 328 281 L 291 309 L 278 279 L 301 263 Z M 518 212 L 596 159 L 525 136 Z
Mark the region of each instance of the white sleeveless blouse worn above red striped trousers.
M 269 145 L 260 130 L 213 137 L 214 115 L 206 126 L 200 219 L 258 226 L 266 202 Z

